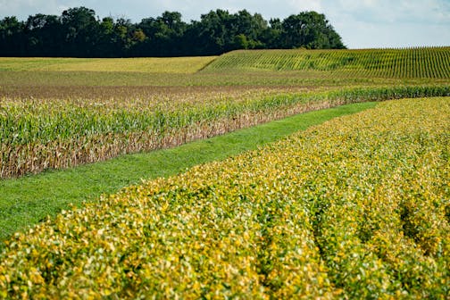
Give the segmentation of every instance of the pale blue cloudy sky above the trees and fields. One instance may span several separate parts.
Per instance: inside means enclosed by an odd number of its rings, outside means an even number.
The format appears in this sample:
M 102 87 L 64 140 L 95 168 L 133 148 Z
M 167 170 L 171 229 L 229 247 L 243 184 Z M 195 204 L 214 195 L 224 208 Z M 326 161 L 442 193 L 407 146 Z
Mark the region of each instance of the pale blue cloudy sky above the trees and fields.
M 324 13 L 349 48 L 450 46 L 450 0 L 0 0 L 0 19 L 27 20 L 85 6 L 107 16 L 139 22 L 162 12 L 181 12 L 184 21 L 226 9 L 246 9 L 264 19 L 285 19 L 304 11 Z

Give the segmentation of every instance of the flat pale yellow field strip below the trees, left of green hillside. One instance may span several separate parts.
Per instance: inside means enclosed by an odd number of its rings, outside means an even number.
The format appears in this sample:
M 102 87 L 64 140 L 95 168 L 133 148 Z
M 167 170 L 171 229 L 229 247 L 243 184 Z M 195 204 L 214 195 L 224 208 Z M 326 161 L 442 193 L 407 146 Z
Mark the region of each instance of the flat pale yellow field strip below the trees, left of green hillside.
M 215 56 L 170 58 L 0 58 L 0 71 L 194 73 Z

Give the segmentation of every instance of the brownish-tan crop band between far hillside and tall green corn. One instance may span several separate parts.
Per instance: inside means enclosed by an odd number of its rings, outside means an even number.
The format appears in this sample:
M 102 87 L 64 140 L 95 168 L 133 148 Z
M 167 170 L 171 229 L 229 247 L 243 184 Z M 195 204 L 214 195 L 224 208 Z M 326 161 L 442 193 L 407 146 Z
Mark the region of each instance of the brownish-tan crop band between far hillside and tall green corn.
M 445 68 L 445 67 L 444 67 Z M 200 71 L 195 74 L 99 72 L 99 71 L 2 71 L 0 95 L 21 95 L 22 88 L 28 94 L 42 94 L 55 89 L 54 95 L 67 89 L 93 87 L 126 89 L 146 87 L 354 87 L 404 84 L 448 84 L 449 78 L 417 79 L 365 77 L 352 71 L 261 71 L 260 69 Z M 63 88 L 63 91 L 58 87 Z M 14 93 L 12 93 L 15 90 Z M 94 94 L 97 91 L 94 90 Z M 122 93 L 120 91 L 120 93 Z M 79 93 L 80 94 L 80 93 Z M 87 94 L 87 92 L 83 93 Z M 128 95 L 127 95 L 128 96 Z M 36 96 L 35 96 L 36 97 Z

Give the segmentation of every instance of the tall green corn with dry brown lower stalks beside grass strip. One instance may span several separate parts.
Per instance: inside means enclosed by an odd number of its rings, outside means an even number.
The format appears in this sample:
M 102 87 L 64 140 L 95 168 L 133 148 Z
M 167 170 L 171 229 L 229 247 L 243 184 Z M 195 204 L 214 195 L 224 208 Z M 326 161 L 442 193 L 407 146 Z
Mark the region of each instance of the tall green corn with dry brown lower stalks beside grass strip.
M 448 96 L 450 87 L 357 88 L 321 93 L 179 99 L 135 104 L 4 101 L 0 106 L 0 178 L 98 162 L 119 154 L 177 146 L 197 138 L 299 112 L 362 101 Z

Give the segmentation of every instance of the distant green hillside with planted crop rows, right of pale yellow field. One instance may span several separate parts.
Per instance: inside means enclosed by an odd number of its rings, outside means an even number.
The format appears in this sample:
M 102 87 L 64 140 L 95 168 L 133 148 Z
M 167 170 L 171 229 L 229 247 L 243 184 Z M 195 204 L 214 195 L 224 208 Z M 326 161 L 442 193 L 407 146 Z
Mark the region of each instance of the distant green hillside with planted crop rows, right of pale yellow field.
M 450 47 L 256 50 L 221 55 L 204 71 L 320 71 L 387 78 L 450 78 Z

